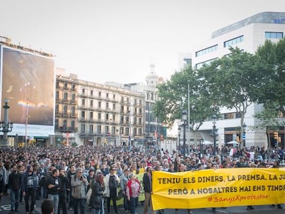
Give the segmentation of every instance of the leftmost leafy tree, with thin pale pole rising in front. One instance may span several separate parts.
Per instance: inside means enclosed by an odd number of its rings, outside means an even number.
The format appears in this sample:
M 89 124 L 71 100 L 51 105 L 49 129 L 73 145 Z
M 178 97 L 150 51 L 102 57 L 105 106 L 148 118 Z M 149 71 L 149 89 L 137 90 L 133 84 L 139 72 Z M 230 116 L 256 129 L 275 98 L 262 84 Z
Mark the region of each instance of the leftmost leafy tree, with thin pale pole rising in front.
M 189 84 L 189 99 L 188 99 Z M 211 101 L 200 94 L 200 81 L 196 72 L 191 67 L 186 67 L 180 72 L 175 72 L 171 79 L 158 85 L 158 97 L 154 112 L 160 121 L 167 127 L 173 125 L 174 120 L 181 119 L 183 109 L 188 109 L 190 105 L 190 118 L 192 130 L 198 130 L 202 122 L 212 114 Z

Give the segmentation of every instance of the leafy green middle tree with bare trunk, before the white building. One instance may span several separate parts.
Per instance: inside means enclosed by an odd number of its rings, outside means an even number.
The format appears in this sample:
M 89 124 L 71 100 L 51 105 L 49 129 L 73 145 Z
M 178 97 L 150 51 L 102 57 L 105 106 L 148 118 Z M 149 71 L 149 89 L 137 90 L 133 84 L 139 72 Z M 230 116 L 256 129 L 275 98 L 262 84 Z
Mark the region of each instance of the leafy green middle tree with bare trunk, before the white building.
M 230 47 L 231 54 L 222 56 L 198 71 L 201 87 L 214 105 L 235 109 L 241 114 L 240 127 L 246 110 L 255 98 L 250 92 L 257 85 L 255 56 L 239 48 Z M 243 130 L 241 130 L 243 131 Z

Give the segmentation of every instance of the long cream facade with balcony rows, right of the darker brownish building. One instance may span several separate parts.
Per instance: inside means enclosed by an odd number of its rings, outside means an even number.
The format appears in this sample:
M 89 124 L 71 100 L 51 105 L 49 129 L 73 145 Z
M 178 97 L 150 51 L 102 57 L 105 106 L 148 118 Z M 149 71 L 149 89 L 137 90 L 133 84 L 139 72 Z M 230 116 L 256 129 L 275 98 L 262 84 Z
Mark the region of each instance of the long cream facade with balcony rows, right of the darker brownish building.
M 78 81 L 78 140 L 131 146 L 143 139 L 144 96 L 118 83 Z

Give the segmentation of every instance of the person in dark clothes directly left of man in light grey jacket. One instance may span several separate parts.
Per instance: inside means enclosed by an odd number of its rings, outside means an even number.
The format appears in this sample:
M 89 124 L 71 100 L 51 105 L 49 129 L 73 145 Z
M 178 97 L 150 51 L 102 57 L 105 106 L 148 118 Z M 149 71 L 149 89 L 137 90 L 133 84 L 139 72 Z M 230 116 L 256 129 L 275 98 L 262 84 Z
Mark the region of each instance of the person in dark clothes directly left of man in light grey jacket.
M 67 191 L 70 191 L 70 181 L 65 176 L 65 171 L 63 168 L 59 169 L 59 180 L 61 180 L 61 189 L 59 189 L 58 213 L 60 213 L 60 208 L 62 208 L 63 214 L 67 214 L 66 198 L 67 198 Z

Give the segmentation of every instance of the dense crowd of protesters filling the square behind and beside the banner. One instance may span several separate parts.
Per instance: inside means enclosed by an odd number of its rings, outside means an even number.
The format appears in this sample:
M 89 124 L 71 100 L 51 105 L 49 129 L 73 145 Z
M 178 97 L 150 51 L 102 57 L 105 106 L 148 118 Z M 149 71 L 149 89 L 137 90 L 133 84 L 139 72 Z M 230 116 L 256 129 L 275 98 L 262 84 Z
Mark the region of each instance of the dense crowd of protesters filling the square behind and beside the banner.
M 182 153 L 186 153 L 183 156 Z M 136 214 L 138 197 L 144 189 L 144 214 L 151 206 L 151 173 L 153 170 L 180 172 L 201 169 L 235 167 L 279 167 L 284 162 L 284 149 L 265 150 L 251 147 L 222 147 L 213 156 L 211 146 L 189 147 L 187 151 L 148 151 L 136 147 L 70 147 L 70 148 L 11 148 L 1 151 L 1 196 L 10 195 L 11 211 L 19 211 L 25 203 L 26 213 L 33 213 L 36 200 L 47 198 L 53 204 L 53 213 L 67 210 L 92 214 L 110 213 L 111 202 L 118 213 L 118 188 L 123 194 L 123 208 Z M 142 186 L 137 174 L 144 173 Z M 86 202 L 86 195 L 89 197 Z M 50 203 L 51 202 L 51 203 Z M 106 203 L 106 204 L 104 204 Z M 39 205 L 39 204 L 37 204 Z M 106 205 L 106 208 L 105 208 Z M 50 205 L 51 206 L 51 205 Z M 277 204 L 282 208 L 281 204 Z M 253 209 L 253 206 L 248 206 Z M 212 209 L 215 213 L 215 208 Z M 175 211 L 178 213 L 178 209 Z M 188 213 L 192 213 L 189 209 Z

